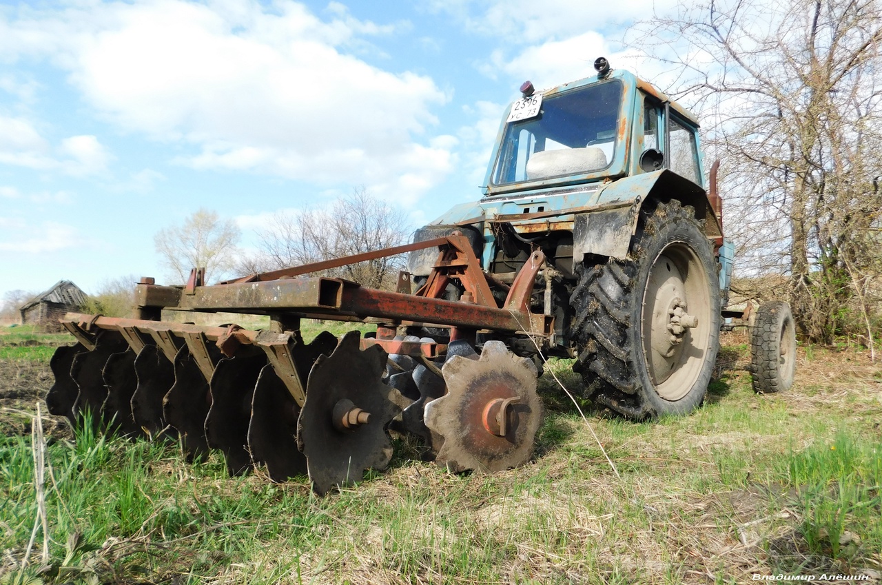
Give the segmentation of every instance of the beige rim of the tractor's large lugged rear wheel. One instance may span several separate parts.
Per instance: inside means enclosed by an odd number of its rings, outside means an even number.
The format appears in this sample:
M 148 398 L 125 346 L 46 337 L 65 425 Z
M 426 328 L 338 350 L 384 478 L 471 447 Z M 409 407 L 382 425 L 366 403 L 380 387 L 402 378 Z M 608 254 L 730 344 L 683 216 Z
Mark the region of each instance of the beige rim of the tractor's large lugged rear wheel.
M 689 244 L 669 244 L 649 269 L 643 351 L 649 379 L 665 400 L 689 394 L 704 368 L 713 320 L 708 289 L 704 266 Z

